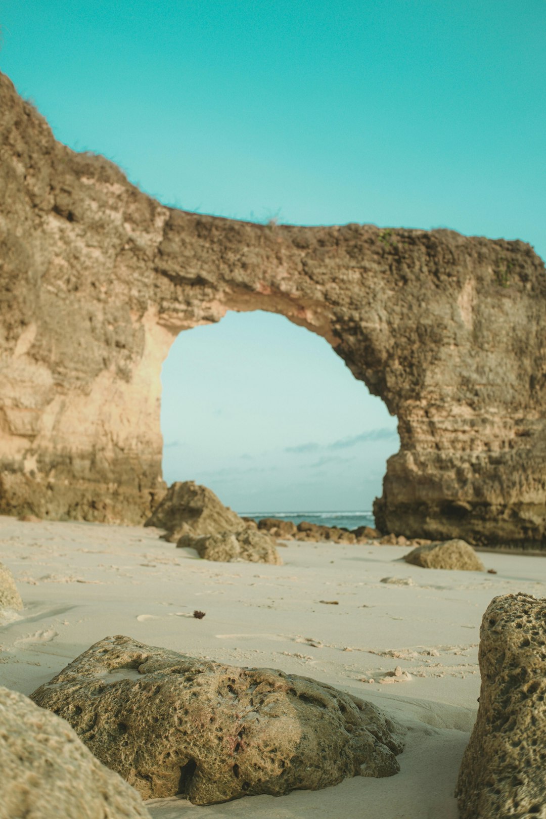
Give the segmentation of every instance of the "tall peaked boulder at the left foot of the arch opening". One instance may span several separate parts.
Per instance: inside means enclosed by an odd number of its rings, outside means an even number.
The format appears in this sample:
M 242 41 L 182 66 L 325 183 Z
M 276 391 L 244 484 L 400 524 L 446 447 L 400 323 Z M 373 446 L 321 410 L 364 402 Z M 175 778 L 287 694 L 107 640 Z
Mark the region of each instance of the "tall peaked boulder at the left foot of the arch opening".
M 165 529 L 165 540 L 175 543 L 183 535 L 238 532 L 245 522 L 224 506 L 207 486 L 195 481 L 175 482 L 144 526 Z

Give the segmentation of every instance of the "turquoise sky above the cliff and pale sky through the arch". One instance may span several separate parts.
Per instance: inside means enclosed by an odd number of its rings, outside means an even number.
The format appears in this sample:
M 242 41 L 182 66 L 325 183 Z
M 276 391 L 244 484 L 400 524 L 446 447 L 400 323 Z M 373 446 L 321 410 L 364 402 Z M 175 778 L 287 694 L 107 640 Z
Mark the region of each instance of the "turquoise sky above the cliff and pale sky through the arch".
M 544 0 L 2 0 L 0 25 L 0 70 L 56 138 L 165 204 L 546 256 Z M 395 419 L 286 319 L 182 334 L 163 382 L 167 480 L 239 510 L 381 493 Z

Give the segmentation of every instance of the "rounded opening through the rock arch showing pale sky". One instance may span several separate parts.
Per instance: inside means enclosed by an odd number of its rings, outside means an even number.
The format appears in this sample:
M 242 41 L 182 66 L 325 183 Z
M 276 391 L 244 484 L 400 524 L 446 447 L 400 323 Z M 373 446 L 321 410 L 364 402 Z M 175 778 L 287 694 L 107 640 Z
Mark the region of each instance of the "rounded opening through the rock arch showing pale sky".
M 178 334 L 161 372 L 163 477 L 239 514 L 368 513 L 396 418 L 323 337 L 263 310 Z

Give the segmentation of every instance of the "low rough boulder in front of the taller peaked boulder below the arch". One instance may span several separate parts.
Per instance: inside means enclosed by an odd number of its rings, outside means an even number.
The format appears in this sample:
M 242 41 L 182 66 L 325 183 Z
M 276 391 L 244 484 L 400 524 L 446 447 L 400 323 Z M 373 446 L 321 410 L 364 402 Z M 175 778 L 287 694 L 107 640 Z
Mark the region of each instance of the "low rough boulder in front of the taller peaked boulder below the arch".
M 219 532 L 216 535 L 183 535 L 177 547 L 191 547 L 200 558 L 219 563 L 273 563 L 282 566 L 275 541 L 264 532 L 241 529 L 239 532 Z

